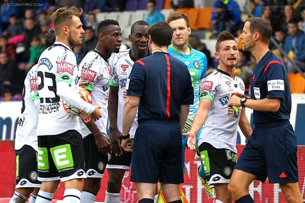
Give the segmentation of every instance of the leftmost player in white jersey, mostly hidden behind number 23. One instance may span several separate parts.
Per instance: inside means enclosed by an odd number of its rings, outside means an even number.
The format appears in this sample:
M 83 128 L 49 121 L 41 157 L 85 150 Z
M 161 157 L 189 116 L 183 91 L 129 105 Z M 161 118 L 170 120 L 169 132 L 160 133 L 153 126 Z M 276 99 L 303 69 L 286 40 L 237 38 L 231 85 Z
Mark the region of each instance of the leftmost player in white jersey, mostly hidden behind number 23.
M 55 42 L 54 30 L 45 35 L 45 47 Z M 16 151 L 16 190 L 9 203 L 34 203 L 41 186 L 37 180 L 37 120 L 39 106 L 37 67 L 34 65 L 24 80 L 22 93 L 22 108 L 16 129 L 15 151 Z

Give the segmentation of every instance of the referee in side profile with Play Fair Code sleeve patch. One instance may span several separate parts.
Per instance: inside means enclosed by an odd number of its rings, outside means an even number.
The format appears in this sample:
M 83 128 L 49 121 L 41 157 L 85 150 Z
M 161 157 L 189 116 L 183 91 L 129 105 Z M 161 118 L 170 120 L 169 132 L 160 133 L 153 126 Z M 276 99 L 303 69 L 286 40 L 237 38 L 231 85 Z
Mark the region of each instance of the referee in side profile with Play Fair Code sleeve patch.
M 291 93 L 283 61 L 268 49 L 270 22 L 246 19 L 242 50 L 251 51 L 257 64 L 250 81 L 251 97 L 231 92 L 229 107 L 253 109 L 255 128 L 234 167 L 228 191 L 236 203 L 254 203 L 247 188 L 253 180 L 279 183 L 288 203 L 302 203 L 298 186 L 297 137 L 289 122 Z

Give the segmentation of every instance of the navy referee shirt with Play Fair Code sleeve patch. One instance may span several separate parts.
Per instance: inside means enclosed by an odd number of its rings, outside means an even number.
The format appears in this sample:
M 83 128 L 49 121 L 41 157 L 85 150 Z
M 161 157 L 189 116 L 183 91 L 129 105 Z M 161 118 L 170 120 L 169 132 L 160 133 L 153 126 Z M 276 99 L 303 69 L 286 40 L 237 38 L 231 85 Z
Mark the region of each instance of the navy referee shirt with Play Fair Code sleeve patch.
M 253 123 L 280 122 L 290 118 L 291 92 L 286 67 L 272 51 L 268 51 L 255 66 L 250 92 L 251 99 L 281 99 L 277 112 L 253 110 Z

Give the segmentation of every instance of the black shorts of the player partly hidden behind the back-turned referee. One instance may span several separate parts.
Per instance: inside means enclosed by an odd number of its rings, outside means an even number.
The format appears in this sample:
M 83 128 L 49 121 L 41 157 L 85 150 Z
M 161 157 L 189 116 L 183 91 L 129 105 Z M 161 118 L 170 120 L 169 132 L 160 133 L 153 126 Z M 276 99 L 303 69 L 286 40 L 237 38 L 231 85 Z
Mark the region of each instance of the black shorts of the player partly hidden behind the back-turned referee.
M 130 163 L 133 152 L 126 152 L 122 147 L 121 156 L 115 156 L 115 153 L 112 152 L 109 154 L 109 159 L 106 168 L 113 169 L 125 169 L 125 171 L 130 171 Z

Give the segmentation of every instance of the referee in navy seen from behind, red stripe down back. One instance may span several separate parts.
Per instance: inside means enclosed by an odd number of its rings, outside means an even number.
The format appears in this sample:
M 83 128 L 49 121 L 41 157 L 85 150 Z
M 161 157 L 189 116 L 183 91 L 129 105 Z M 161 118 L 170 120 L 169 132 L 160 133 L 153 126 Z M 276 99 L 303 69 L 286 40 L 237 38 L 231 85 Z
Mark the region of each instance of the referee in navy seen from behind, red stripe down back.
M 167 52 L 173 28 L 159 21 L 147 32 L 152 55 L 136 61 L 127 79 L 121 146 L 133 150 L 130 181 L 136 182 L 139 203 L 153 203 L 158 181 L 166 202 L 182 203 L 181 128 L 194 89 L 187 66 Z M 128 132 L 137 108 L 139 126 L 133 144 Z

